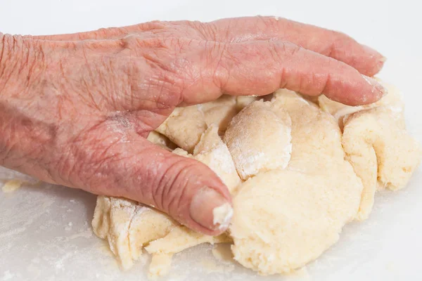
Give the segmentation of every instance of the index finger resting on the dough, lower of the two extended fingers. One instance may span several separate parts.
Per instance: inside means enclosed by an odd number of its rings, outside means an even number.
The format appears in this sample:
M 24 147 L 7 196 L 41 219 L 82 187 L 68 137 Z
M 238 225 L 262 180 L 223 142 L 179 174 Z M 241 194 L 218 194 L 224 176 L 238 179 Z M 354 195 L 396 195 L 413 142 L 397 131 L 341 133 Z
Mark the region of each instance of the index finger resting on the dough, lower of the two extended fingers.
M 283 41 L 199 44 L 202 53 L 191 62 L 196 68 L 191 72 L 200 75 L 185 83 L 190 85 L 184 89 L 185 103 L 198 103 L 198 93 L 211 97 L 221 93 L 266 95 L 286 88 L 308 96 L 324 93 L 347 105 L 364 105 L 385 93 L 383 86 L 350 65 Z

